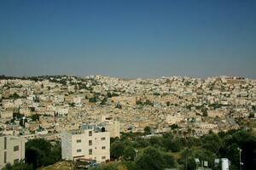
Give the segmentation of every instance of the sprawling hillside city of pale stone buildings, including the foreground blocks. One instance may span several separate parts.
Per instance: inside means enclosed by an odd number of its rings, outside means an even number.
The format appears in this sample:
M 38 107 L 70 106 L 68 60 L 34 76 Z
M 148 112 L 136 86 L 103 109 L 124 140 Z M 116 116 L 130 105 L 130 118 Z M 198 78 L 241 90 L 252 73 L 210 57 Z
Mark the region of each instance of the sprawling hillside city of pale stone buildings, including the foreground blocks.
M 110 139 L 125 133 L 151 138 L 172 131 L 201 138 L 241 128 L 255 131 L 251 122 L 256 117 L 256 80 L 1 76 L 0 101 L 0 133 L 5 136 L 1 143 L 16 139 L 25 150 L 25 143 L 32 139 L 61 141 L 62 159 L 86 157 L 101 163 L 110 160 Z M 1 168 L 8 162 L 7 155 L 5 151 Z M 9 162 L 24 155 L 23 151 L 15 159 L 13 154 Z

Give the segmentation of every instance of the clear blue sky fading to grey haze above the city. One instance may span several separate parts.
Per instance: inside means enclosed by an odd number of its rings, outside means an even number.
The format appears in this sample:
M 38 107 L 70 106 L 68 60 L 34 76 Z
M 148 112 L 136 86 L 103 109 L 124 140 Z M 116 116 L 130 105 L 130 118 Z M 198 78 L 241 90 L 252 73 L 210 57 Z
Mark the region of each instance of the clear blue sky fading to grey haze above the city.
M 256 1 L 1 0 L 0 74 L 256 78 Z

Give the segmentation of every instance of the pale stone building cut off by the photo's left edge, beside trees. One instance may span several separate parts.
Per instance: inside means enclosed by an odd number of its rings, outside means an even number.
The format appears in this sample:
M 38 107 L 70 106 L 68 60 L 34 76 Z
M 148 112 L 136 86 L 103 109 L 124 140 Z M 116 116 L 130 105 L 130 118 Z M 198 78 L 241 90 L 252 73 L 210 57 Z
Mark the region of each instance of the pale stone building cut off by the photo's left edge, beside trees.
M 0 169 L 25 159 L 25 143 L 26 139 L 21 137 L 0 136 Z

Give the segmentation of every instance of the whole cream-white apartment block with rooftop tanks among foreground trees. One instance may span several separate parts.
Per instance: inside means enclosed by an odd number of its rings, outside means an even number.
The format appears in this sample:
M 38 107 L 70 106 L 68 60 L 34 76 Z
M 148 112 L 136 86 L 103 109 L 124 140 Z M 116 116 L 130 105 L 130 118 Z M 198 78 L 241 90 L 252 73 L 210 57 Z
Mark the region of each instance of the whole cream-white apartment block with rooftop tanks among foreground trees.
M 110 160 L 110 133 L 105 127 L 82 125 L 79 130 L 61 132 L 61 157 L 65 160 Z

